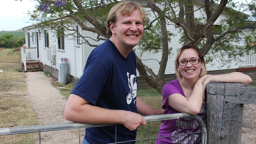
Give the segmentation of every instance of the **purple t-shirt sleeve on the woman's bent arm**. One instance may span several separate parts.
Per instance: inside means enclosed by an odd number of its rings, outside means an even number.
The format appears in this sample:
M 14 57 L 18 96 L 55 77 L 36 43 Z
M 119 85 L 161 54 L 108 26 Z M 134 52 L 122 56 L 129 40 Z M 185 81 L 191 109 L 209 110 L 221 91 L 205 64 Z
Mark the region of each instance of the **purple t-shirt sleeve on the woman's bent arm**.
M 168 97 L 171 94 L 183 94 L 183 90 L 180 86 L 180 84 L 178 83 L 178 80 L 173 80 L 169 83 L 166 83 L 165 86 L 163 87 L 162 90 L 162 96 L 163 96 L 163 102 L 162 102 L 162 106 L 164 106 L 166 104 L 166 101 L 168 99 Z

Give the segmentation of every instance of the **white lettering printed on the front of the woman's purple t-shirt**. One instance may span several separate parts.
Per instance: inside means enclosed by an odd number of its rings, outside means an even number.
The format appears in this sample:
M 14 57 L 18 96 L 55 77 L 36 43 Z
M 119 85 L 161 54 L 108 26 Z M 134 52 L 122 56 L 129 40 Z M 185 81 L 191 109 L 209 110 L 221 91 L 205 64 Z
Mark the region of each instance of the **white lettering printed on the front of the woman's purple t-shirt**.
M 201 109 L 200 109 L 200 113 L 204 113 L 205 112 L 205 105 L 202 105 Z M 200 116 L 201 118 L 203 118 L 203 116 Z M 197 132 L 199 132 L 201 129 L 199 127 L 197 127 L 199 124 L 197 121 L 191 119 L 191 118 L 185 118 L 186 120 L 191 120 L 190 122 L 185 122 L 185 121 L 180 121 L 180 120 L 176 120 L 176 126 L 181 128 L 181 129 L 188 129 L 185 133 L 184 132 L 178 132 L 178 130 L 176 129 L 171 135 L 173 135 L 171 137 L 171 141 L 173 143 L 177 143 L 177 144 L 194 144 L 194 143 L 199 143 L 199 135 L 198 134 L 188 134 L 188 133 L 192 133 L 192 129 L 197 129 Z M 179 129 L 179 131 L 181 131 L 181 129 Z

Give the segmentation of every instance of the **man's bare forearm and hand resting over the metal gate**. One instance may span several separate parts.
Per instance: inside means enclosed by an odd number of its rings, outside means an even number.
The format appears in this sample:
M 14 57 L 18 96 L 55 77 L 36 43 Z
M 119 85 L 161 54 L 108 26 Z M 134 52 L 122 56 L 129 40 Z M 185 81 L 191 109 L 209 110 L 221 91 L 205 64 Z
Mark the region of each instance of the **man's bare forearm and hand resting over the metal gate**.
M 146 125 L 145 119 L 137 113 L 97 107 L 75 94 L 69 96 L 64 118 L 68 121 L 86 124 L 123 124 L 131 131 Z

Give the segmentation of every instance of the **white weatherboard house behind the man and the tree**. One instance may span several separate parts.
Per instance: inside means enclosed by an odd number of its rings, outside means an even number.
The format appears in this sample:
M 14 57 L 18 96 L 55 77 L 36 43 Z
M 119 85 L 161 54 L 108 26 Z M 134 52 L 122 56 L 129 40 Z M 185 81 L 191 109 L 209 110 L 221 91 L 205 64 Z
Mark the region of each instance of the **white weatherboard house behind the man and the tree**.
M 195 9 L 198 9 L 198 7 L 203 7 L 204 3 L 203 1 L 197 1 L 197 5 L 195 5 Z M 202 17 L 203 9 L 200 11 L 195 12 L 195 17 Z M 225 14 L 220 15 L 220 17 L 217 19 L 217 21 L 214 23 L 217 25 L 217 23 L 222 19 L 225 18 Z M 86 23 L 86 25 L 90 25 L 90 23 Z M 68 79 L 71 82 L 77 82 L 77 80 L 83 75 L 83 68 L 86 64 L 86 60 L 94 47 L 90 47 L 86 44 L 80 44 L 82 39 L 78 39 L 77 37 L 69 36 L 68 38 L 63 37 L 57 37 L 54 35 L 54 32 L 51 29 L 36 29 L 34 27 L 35 25 L 30 25 L 23 27 L 22 29 L 26 31 L 26 47 L 23 49 L 23 53 L 26 54 L 26 57 L 28 59 L 34 59 L 37 61 L 40 61 L 43 67 L 43 71 L 49 71 L 51 72 L 53 77 L 58 78 L 58 70 L 59 70 L 59 62 L 61 61 L 61 58 L 67 58 L 68 63 Z M 74 26 L 75 27 L 75 26 Z M 79 27 L 78 27 L 79 29 Z M 167 29 L 171 31 L 172 33 L 175 33 L 176 36 L 171 37 L 171 47 L 172 50 L 172 56 L 169 56 L 167 67 L 165 70 L 165 75 L 169 78 L 166 79 L 167 81 L 170 81 L 174 79 L 175 77 L 175 70 L 174 70 L 174 60 L 177 54 L 177 51 L 179 48 L 181 48 L 181 44 L 178 42 L 181 35 L 178 33 L 178 30 L 174 28 L 172 25 L 167 25 Z M 80 34 L 83 37 L 96 37 L 97 35 L 94 35 L 92 32 L 89 31 L 82 31 L 79 30 Z M 68 34 L 69 31 L 64 31 L 64 34 Z M 103 41 L 95 42 L 93 40 L 90 41 L 92 44 L 99 45 Z M 27 51 L 29 50 L 29 52 Z M 33 52 L 32 52 L 33 51 Z M 135 52 L 136 47 L 135 47 Z M 161 60 L 161 53 L 144 53 L 142 55 L 142 59 L 156 59 Z M 156 60 L 147 60 L 143 61 L 145 65 L 147 65 L 149 68 L 153 69 L 153 71 L 156 73 L 159 69 L 159 64 Z M 22 59 L 23 62 L 25 62 L 24 58 Z M 216 63 L 215 65 L 211 66 L 213 63 Z M 223 73 L 223 72 L 233 72 L 237 71 L 238 65 L 235 63 L 231 64 L 229 68 L 227 67 L 219 67 L 219 63 L 217 62 L 217 59 L 214 60 L 214 62 L 211 64 L 207 64 L 207 71 L 208 73 Z M 146 86 L 145 82 L 139 77 L 138 75 L 138 81 L 140 86 Z

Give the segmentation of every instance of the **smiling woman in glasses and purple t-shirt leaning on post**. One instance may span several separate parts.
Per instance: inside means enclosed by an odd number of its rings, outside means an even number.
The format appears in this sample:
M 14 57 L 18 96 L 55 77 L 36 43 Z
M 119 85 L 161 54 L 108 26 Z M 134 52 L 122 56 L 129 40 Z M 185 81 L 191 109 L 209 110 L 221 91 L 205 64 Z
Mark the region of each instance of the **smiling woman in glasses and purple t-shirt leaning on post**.
M 203 120 L 205 115 L 204 91 L 206 84 L 210 83 L 210 81 L 252 83 L 251 77 L 241 72 L 206 75 L 206 64 L 203 55 L 193 45 L 185 45 L 179 50 L 175 59 L 175 72 L 178 78 L 166 83 L 162 91 L 162 108 L 165 110 L 165 114 L 189 113 L 198 115 Z M 197 133 L 199 131 L 198 123 L 193 119 L 166 120 L 160 126 L 157 137 L 162 138 L 157 138 L 156 144 L 197 144 L 200 143 L 199 133 Z

